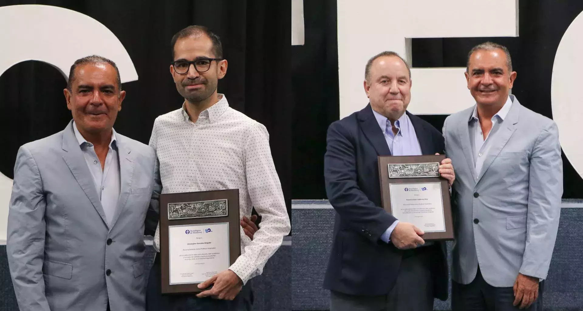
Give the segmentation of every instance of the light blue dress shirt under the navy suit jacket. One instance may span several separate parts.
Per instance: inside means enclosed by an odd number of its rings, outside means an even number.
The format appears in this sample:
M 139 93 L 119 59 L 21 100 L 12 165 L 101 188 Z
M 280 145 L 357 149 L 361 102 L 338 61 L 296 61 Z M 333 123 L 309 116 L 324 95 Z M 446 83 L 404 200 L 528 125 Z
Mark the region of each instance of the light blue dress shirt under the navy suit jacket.
M 421 145 L 419 145 L 419 139 L 417 139 L 415 128 L 406 113 L 403 113 L 403 116 L 395 121 L 395 127 L 398 128 L 396 135 L 393 133 L 391 121 L 389 121 L 387 117 L 377 113 L 374 109 L 373 114 L 374 117 L 377 118 L 382 134 L 385 135 L 385 140 L 387 141 L 387 145 L 389 146 L 392 155 L 414 156 L 423 154 L 421 152 Z M 382 233 L 381 240 L 389 243 L 391 241 L 391 233 L 398 223 L 398 220 L 393 222 L 392 225 L 385 230 L 385 233 Z

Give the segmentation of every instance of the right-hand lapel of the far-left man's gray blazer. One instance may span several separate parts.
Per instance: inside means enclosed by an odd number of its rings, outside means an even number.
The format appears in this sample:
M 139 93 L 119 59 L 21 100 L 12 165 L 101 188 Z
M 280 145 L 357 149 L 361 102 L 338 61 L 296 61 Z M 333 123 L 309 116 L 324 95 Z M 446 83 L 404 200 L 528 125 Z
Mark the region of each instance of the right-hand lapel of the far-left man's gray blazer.
M 131 194 L 132 177 L 134 176 L 134 155 L 128 144 L 125 144 L 125 138 L 117 135 L 117 154 L 120 157 L 120 198 L 117 201 L 115 215 L 111 222 L 110 230 L 120 218 L 121 212 L 127 205 L 128 197 Z

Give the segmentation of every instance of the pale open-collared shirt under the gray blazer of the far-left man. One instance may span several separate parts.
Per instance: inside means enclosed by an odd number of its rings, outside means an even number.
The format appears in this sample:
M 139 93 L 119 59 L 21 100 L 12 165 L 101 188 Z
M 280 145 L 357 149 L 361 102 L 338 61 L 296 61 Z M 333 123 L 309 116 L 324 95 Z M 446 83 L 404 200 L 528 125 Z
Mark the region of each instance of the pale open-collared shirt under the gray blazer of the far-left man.
M 103 211 L 106 214 L 107 223 L 111 225 L 121 191 L 120 158 L 117 151 L 117 141 L 115 140 L 115 130 L 111 132 L 109 151 L 107 152 L 106 165 L 103 170 L 101 170 L 101 162 L 97 158 L 93 144 L 83 138 L 74 121 L 73 131 L 83 152 L 83 157 L 85 157 L 87 167 L 89 167 L 89 172 L 93 177 L 93 183 L 101 200 Z

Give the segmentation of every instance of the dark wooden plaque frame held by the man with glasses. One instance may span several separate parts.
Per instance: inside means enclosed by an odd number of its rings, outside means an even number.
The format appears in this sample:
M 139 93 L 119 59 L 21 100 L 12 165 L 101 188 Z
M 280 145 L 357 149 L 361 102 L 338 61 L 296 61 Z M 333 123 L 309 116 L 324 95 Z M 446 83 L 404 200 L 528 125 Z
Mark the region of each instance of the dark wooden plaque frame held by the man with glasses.
M 228 215 L 187 218 L 187 219 L 168 219 L 168 204 L 176 202 L 194 202 L 210 200 L 228 200 Z M 170 285 L 170 265 L 168 254 L 168 226 L 175 225 L 199 225 L 201 223 L 219 223 L 229 222 L 229 263 L 233 264 L 241 255 L 241 236 L 240 236 L 240 219 L 239 219 L 239 190 L 213 190 L 198 191 L 189 193 L 168 193 L 160 195 L 160 255 L 161 257 L 161 281 L 162 293 L 197 293 L 206 289 L 199 289 L 198 284 L 175 284 Z

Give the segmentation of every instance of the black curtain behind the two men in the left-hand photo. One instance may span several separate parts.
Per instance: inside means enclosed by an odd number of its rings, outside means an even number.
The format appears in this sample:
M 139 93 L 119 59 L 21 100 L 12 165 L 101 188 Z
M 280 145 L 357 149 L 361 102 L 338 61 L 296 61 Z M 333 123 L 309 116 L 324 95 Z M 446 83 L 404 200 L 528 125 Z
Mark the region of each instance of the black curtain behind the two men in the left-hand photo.
M 219 93 L 229 104 L 265 125 L 286 204 L 291 207 L 291 2 L 269 0 L 7 1 L 0 6 L 60 6 L 103 23 L 128 51 L 138 81 L 127 91 L 115 130 L 145 144 L 154 118 L 178 109 L 183 100 L 169 67 L 170 39 L 189 25 L 218 34 L 229 68 Z M 79 40 L 93 43 L 91 34 Z M 59 44 L 55 42 L 54 44 Z M 66 48 L 66 47 L 65 47 Z M 2 48 L 0 47 L 0 57 Z M 61 131 L 71 120 L 62 90 L 64 77 L 51 65 L 26 61 L 0 76 L 0 172 L 13 176 L 20 145 Z

